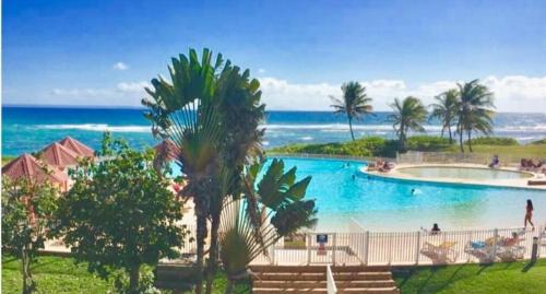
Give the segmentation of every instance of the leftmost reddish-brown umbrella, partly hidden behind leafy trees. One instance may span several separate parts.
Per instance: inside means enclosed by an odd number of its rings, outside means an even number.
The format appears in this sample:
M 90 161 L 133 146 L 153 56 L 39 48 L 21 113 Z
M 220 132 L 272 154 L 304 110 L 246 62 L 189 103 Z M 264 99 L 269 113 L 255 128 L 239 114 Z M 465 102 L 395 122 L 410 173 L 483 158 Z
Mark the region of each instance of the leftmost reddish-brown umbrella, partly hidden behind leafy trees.
M 11 178 L 12 180 L 19 180 L 21 178 L 36 180 L 38 183 L 48 180 L 52 184 L 61 185 L 64 189 L 67 188 L 69 180 L 67 174 L 39 162 L 33 155 L 27 153 L 3 166 L 2 175 Z

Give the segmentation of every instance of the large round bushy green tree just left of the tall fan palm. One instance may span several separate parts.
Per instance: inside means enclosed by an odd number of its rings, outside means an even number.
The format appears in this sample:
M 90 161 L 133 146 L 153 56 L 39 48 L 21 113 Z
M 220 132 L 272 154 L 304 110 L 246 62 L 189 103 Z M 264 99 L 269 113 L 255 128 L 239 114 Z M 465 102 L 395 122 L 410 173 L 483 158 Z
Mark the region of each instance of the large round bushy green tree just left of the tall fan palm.
M 187 234 L 181 205 L 154 168 L 154 152 L 139 152 L 105 133 L 100 162 L 84 161 L 71 176 L 72 189 L 59 199 L 55 233 L 78 262 L 107 279 L 122 269 L 128 293 L 139 293 L 143 264 L 175 258 Z

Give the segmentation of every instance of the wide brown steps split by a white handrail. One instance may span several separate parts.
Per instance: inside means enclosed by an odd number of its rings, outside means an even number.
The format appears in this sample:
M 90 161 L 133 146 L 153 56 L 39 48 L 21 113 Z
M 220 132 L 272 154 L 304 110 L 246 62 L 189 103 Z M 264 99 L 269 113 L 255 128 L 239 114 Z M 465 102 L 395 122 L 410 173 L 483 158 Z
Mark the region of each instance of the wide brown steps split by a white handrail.
M 388 267 L 331 267 L 337 293 L 400 293 Z M 254 266 L 252 293 L 327 293 L 325 266 Z

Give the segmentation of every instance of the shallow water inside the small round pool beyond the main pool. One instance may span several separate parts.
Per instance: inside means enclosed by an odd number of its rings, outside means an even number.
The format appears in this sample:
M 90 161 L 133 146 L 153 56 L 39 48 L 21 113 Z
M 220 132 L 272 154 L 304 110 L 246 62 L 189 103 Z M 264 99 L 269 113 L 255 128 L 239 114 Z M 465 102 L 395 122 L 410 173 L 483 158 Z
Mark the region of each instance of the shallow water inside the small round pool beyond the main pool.
M 413 177 L 423 178 L 460 178 L 460 179 L 520 179 L 531 177 L 527 173 L 502 170 L 494 168 L 450 167 L 450 166 L 423 166 L 402 167 L 396 172 Z

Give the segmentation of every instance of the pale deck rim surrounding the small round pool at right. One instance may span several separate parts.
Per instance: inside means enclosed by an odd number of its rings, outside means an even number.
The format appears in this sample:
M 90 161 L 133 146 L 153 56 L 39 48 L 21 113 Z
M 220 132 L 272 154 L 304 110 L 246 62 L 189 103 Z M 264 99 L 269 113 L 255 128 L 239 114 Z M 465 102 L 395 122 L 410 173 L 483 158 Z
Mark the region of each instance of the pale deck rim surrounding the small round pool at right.
M 440 183 L 440 184 L 455 184 L 455 185 L 475 185 L 475 186 L 492 186 L 502 188 L 520 188 L 520 189 L 533 189 L 533 190 L 546 190 L 546 185 L 542 186 L 530 186 L 527 180 L 546 180 L 546 176 L 537 173 L 522 172 L 518 168 L 512 167 L 501 167 L 497 168 L 499 170 L 508 172 L 519 172 L 531 175 L 529 178 L 518 178 L 518 179 L 462 179 L 462 178 L 449 178 L 449 177 L 416 177 L 405 173 L 399 172 L 399 168 L 405 167 L 466 167 L 466 168 L 487 168 L 489 167 L 482 164 L 397 164 L 390 172 L 378 172 L 378 170 L 367 170 L 367 166 L 363 167 L 360 172 L 366 175 L 380 177 L 380 178 L 391 178 L 401 180 L 413 180 L 420 183 Z

